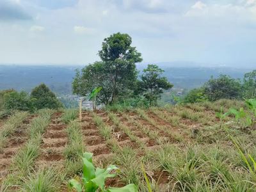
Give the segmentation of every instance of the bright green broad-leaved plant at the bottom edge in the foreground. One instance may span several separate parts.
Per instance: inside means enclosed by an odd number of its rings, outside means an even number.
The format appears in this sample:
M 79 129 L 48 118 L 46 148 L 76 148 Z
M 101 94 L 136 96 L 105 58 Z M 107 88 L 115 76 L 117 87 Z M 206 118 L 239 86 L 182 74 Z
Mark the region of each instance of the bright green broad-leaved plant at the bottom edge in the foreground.
M 105 180 L 108 177 L 116 177 L 116 175 L 110 174 L 111 170 L 117 170 L 120 172 L 115 165 L 109 165 L 106 169 L 96 168 L 92 164 L 91 153 L 83 154 L 83 184 L 79 182 L 78 177 L 76 179 L 71 179 L 68 181 L 68 191 L 76 189 L 78 192 L 137 192 L 138 188 L 134 184 L 129 184 L 124 188 L 108 188 L 105 189 Z

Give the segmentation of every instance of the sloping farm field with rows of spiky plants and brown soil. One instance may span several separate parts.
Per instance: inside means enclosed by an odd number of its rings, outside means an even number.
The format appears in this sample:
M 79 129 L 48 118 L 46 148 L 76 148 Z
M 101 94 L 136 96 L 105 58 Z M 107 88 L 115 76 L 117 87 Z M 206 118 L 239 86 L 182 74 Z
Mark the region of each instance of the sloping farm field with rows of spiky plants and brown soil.
M 82 111 L 42 109 L 15 112 L 0 122 L 0 191 L 67 191 L 67 181 L 83 173 L 83 152 L 99 168 L 115 164 L 117 177 L 106 186 L 133 183 L 148 191 L 256 191 L 256 132 L 222 120 L 215 111 L 244 108 L 219 100 L 150 109 Z M 241 129 L 243 125 L 243 129 Z

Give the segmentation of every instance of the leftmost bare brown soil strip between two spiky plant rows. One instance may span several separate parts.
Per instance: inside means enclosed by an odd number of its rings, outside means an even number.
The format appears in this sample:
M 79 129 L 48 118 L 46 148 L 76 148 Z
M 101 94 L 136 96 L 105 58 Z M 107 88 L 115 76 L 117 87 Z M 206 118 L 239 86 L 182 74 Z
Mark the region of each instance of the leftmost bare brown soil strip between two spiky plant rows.
M 22 125 L 12 134 L 8 144 L 3 148 L 3 151 L 0 152 L 0 180 L 8 175 L 10 164 L 12 164 L 12 157 L 28 140 L 27 129 L 33 118 L 35 118 L 35 115 L 29 116 L 22 122 Z

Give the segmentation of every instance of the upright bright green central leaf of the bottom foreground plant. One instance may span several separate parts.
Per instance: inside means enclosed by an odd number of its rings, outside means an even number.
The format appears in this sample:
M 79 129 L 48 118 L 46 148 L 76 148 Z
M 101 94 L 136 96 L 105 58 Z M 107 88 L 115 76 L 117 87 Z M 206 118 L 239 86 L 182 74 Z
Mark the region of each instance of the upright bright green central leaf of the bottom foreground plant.
M 91 153 L 83 154 L 83 179 L 86 182 L 95 178 L 95 167 L 92 164 L 92 156 L 93 154 Z

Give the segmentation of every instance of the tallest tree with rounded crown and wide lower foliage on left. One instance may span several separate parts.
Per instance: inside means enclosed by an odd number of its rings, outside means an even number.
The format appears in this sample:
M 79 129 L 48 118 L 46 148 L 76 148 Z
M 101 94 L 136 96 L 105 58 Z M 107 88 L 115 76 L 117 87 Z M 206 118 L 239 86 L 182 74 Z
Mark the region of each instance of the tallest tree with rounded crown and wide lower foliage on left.
M 131 93 L 136 84 L 136 64 L 142 61 L 140 52 L 132 47 L 132 38 L 116 33 L 104 39 L 99 56 L 102 61 L 84 67 L 73 79 L 73 93 L 87 95 L 102 87 L 98 102 L 112 104 L 121 95 Z

